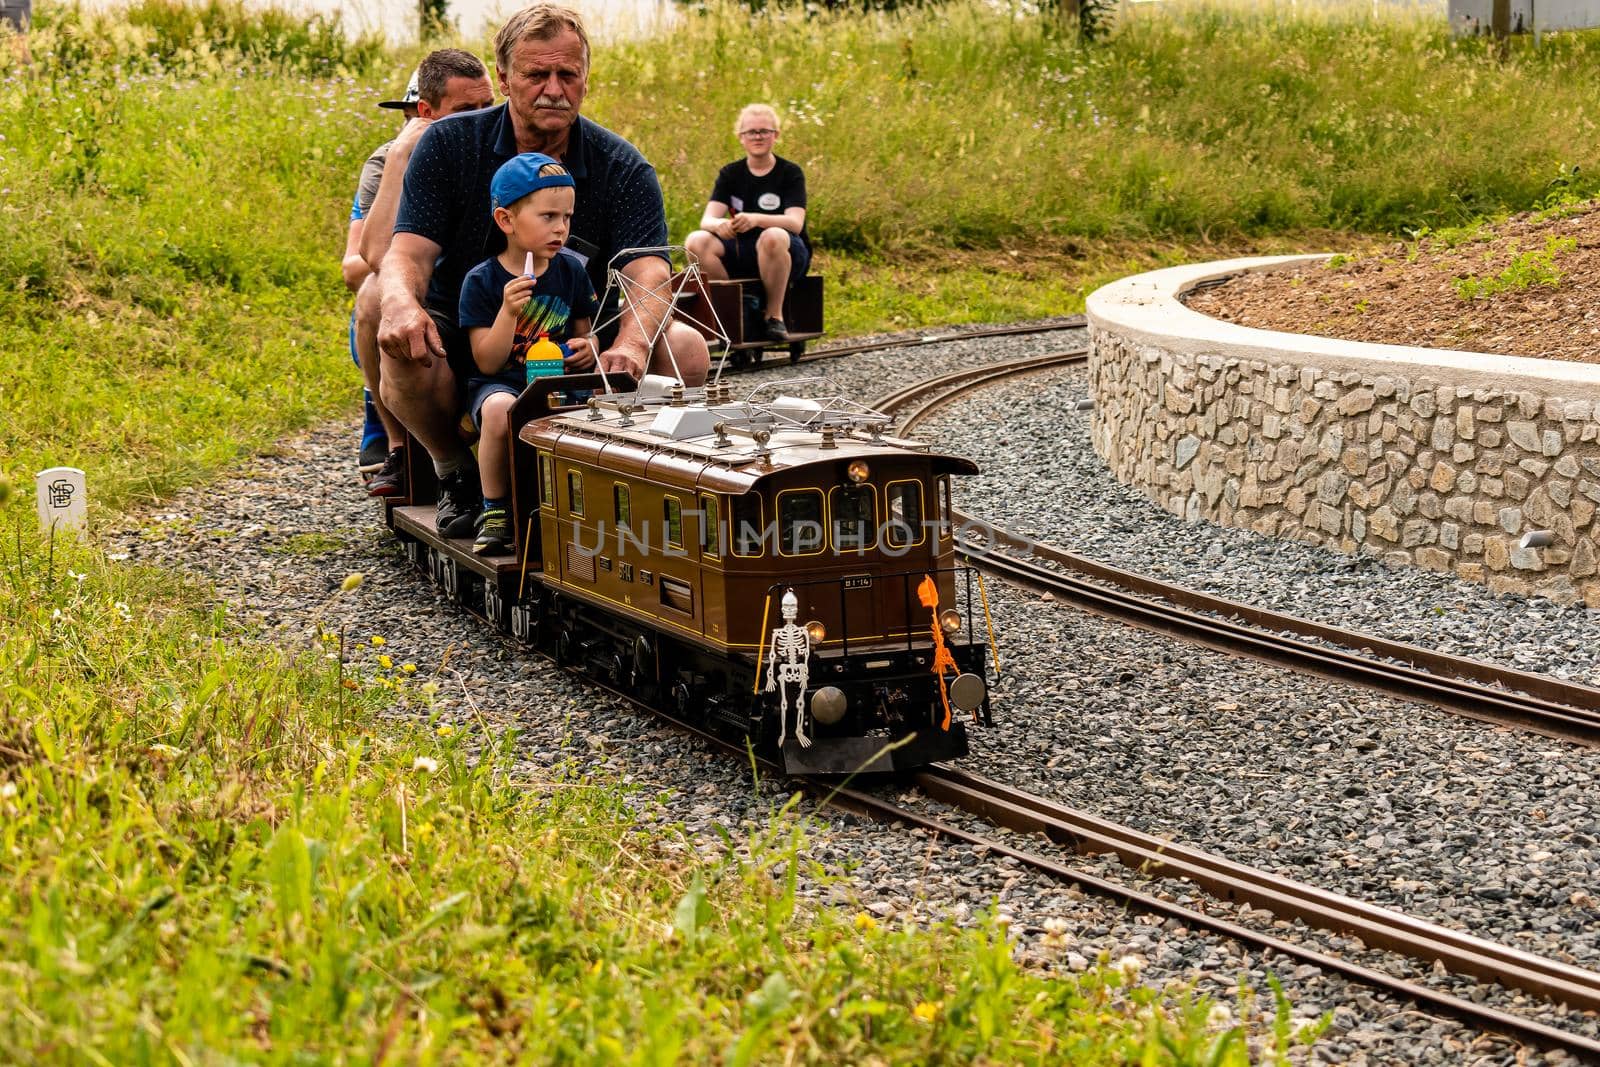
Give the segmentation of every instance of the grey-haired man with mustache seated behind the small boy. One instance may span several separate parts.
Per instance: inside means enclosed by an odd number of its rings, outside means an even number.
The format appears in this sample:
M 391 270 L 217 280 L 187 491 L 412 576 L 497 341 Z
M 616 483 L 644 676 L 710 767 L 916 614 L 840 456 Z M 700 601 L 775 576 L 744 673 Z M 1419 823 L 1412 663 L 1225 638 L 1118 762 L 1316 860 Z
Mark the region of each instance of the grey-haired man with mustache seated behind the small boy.
M 579 115 L 589 90 L 582 18 L 549 3 L 523 8 L 494 38 L 494 66 L 506 102 L 435 122 L 418 142 L 394 243 L 379 270 L 382 400 L 434 459 L 438 531 L 446 537 L 472 536 L 482 504 L 477 464 L 456 434 L 461 390 L 474 366 L 456 312 L 467 270 L 506 246 L 490 213 L 494 171 L 522 152 L 562 160 L 578 187 L 568 248 L 586 259 L 597 293 L 605 291 L 605 272 L 618 251 L 667 243 L 654 168 L 632 144 Z M 654 254 L 616 266 L 651 288 L 669 275 L 667 261 Z M 646 370 L 670 373 L 670 347 L 686 384 L 701 384 L 710 354 L 688 325 L 669 323 L 648 350 L 662 314 L 662 307 L 632 307 L 600 334 L 600 365 L 635 378 Z M 602 309 L 602 318 L 610 315 Z M 586 371 L 594 363 L 595 357 L 582 352 L 568 360 L 568 370 Z

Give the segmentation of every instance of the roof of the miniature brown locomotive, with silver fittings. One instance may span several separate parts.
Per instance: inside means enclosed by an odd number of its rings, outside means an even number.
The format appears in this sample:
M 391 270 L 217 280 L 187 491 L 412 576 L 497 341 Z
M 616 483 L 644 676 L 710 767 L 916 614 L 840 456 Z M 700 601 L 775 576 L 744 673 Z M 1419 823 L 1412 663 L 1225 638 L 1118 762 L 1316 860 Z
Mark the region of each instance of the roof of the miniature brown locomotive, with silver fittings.
M 934 474 L 978 474 L 978 464 L 890 437 L 891 419 L 835 395 L 800 397 L 795 389 L 827 379 L 762 386 L 744 400 L 715 387 L 683 392 L 678 402 L 654 392 L 597 395 L 587 411 L 536 419 L 522 438 L 568 459 L 619 474 L 686 485 L 712 493 L 749 493 L 763 478 L 800 467 L 922 456 Z M 707 400 L 710 394 L 710 400 Z M 834 478 L 829 478 L 832 482 Z

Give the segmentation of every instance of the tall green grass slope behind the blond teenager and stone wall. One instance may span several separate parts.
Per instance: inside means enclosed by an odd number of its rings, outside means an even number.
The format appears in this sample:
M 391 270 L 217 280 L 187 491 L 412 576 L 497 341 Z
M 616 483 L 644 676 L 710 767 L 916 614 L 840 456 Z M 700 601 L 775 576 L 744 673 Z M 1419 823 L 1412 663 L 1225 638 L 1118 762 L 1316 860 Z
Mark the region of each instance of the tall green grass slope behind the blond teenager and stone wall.
M 813 229 L 845 251 L 1088 238 L 1398 234 L 1600 176 L 1600 35 L 1498 62 L 1437 13 L 1130 6 L 1085 48 L 1021 6 L 877 14 L 715 8 L 595 61 L 592 109 L 635 138 L 674 234 L 776 104 Z M 1563 170 L 1565 168 L 1565 170 Z

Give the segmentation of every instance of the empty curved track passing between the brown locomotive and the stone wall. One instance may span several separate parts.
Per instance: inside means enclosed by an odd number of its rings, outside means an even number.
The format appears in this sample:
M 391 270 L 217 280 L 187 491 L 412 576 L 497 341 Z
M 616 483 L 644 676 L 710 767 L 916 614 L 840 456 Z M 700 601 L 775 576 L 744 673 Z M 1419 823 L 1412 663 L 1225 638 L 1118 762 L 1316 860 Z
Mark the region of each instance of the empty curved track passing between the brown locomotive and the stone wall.
M 1085 360 L 1086 349 L 1074 349 L 968 368 L 907 386 L 878 398 L 875 406 L 886 414 L 901 413 L 901 432 L 910 434 L 920 421 L 974 389 Z M 1098 614 L 1467 718 L 1600 745 L 1597 688 L 1256 608 L 1018 537 L 963 512 L 952 517 L 958 550 L 970 563 Z

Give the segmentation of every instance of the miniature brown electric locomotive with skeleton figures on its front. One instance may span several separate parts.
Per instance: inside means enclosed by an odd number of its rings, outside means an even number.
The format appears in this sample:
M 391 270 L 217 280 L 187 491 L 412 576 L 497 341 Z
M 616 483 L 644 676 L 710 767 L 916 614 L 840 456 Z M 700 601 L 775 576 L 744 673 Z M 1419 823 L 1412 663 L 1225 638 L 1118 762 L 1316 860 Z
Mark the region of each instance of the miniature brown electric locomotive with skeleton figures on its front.
M 963 720 L 989 717 L 987 614 L 955 561 L 949 501 L 950 477 L 976 467 L 838 398 L 730 392 L 520 403 L 518 555 L 474 565 L 486 614 L 565 667 L 770 750 L 790 707 L 768 681 L 792 593 L 789 633 L 806 638 L 782 670 L 805 741 L 781 745 L 787 769 L 963 755 Z M 462 545 L 416 526 L 395 523 L 466 589 Z

